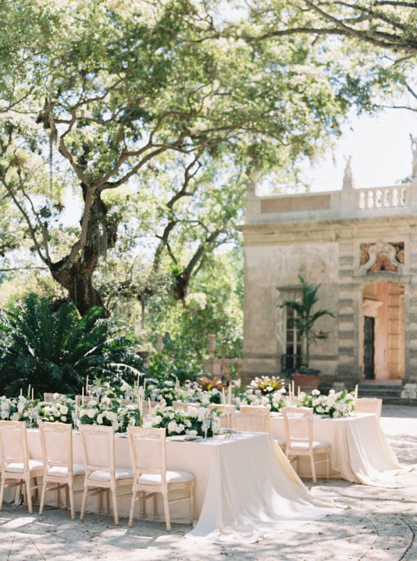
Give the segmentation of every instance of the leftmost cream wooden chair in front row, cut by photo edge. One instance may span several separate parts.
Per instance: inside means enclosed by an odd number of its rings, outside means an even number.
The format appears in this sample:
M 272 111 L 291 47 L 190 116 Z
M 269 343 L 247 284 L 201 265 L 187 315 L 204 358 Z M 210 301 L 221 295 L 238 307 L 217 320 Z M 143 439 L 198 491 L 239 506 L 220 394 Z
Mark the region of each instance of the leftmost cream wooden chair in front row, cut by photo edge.
M 41 487 L 37 484 L 37 477 L 44 474 L 43 462 L 40 459 L 30 459 L 26 422 L 0 421 L 0 451 L 3 461 L 1 470 L 0 510 L 3 507 L 4 491 L 7 487 L 21 487 L 26 485 L 26 496 L 29 514 L 32 514 L 32 489 Z M 31 485 L 31 480 L 34 485 Z

